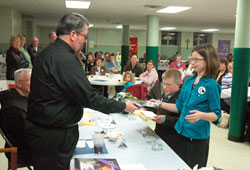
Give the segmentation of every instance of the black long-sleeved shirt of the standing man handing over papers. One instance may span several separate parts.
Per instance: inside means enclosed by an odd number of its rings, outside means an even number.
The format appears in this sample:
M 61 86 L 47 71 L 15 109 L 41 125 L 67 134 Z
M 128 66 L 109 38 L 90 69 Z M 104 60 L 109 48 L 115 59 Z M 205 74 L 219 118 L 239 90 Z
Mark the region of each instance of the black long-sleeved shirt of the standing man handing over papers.
M 38 54 L 33 66 L 27 119 L 45 126 L 67 126 L 81 119 L 83 107 L 114 113 L 126 105 L 94 91 L 74 50 L 57 38 Z

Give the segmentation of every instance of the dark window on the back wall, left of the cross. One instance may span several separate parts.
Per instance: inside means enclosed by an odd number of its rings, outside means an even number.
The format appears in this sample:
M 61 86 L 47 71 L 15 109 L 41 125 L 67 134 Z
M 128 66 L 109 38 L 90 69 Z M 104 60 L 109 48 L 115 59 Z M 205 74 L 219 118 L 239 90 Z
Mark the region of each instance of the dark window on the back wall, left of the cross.
M 161 32 L 161 45 L 177 45 L 178 32 Z

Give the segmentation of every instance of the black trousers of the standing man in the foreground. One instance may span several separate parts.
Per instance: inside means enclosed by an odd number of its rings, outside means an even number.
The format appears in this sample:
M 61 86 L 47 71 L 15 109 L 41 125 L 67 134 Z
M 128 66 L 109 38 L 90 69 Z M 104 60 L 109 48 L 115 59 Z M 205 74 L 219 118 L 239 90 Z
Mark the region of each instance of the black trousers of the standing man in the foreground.
M 78 126 L 45 128 L 25 121 L 24 127 L 35 170 L 69 170 L 79 138 Z

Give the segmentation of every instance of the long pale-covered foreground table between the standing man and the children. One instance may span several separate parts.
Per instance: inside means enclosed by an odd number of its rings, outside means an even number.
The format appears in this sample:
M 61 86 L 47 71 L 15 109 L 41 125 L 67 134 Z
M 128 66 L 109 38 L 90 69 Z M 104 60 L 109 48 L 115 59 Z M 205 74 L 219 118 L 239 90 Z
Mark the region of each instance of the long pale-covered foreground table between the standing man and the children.
M 129 120 L 128 115 L 112 114 L 117 127 L 112 131 L 123 132 L 128 148 L 117 148 L 114 142 L 105 139 L 108 154 L 82 154 L 73 158 L 115 158 L 123 170 L 124 165 L 143 164 L 147 170 L 189 170 L 188 165 L 181 160 L 175 152 L 163 142 L 155 133 L 157 142 L 163 145 L 162 151 L 153 151 L 151 145 L 146 143 L 141 131 L 152 131 L 147 124 L 136 115 L 135 120 Z M 96 126 L 79 126 L 79 139 L 90 139 L 94 134 Z M 71 161 L 71 166 L 74 160 Z M 135 169 L 130 169 L 135 170 Z M 136 169 L 139 170 L 139 169 Z

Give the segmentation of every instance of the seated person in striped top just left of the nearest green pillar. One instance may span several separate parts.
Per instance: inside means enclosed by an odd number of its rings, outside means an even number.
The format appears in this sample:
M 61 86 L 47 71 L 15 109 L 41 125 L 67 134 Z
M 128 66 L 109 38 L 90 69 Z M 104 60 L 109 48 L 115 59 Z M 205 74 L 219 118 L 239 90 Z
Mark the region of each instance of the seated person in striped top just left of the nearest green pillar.
M 228 73 L 222 77 L 221 80 L 221 88 L 222 89 L 229 89 L 232 88 L 232 79 L 233 79 L 233 62 L 229 63 L 228 66 Z M 221 109 L 230 113 L 230 99 L 222 99 L 221 100 Z

